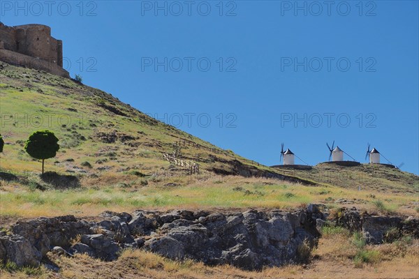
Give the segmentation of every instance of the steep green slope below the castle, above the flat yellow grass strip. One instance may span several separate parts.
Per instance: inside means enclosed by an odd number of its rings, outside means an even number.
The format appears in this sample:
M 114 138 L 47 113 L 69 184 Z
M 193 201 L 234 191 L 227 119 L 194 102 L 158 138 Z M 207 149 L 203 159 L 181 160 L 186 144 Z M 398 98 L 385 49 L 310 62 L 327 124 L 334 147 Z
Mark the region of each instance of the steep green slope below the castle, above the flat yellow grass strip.
M 3 169 L 39 169 L 22 147 L 30 133 L 41 129 L 52 130 L 59 138 L 57 158 L 47 161 L 47 169 L 56 172 L 161 172 L 162 167 L 168 167 L 162 153 L 172 153 L 173 142 L 179 140 L 201 145 L 186 144 L 182 157 L 198 162 L 204 172 L 233 172 L 233 160 L 258 167 L 98 89 L 38 70 L 1 65 L 1 134 L 6 141 Z

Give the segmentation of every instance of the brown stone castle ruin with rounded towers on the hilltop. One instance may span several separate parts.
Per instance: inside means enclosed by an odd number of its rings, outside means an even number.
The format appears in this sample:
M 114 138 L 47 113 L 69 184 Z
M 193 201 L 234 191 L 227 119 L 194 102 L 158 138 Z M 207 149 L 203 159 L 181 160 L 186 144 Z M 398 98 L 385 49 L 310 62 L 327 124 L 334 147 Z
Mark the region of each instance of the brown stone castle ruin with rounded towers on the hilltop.
M 8 27 L 0 22 L 0 61 L 70 78 L 63 69 L 63 42 L 42 24 Z

